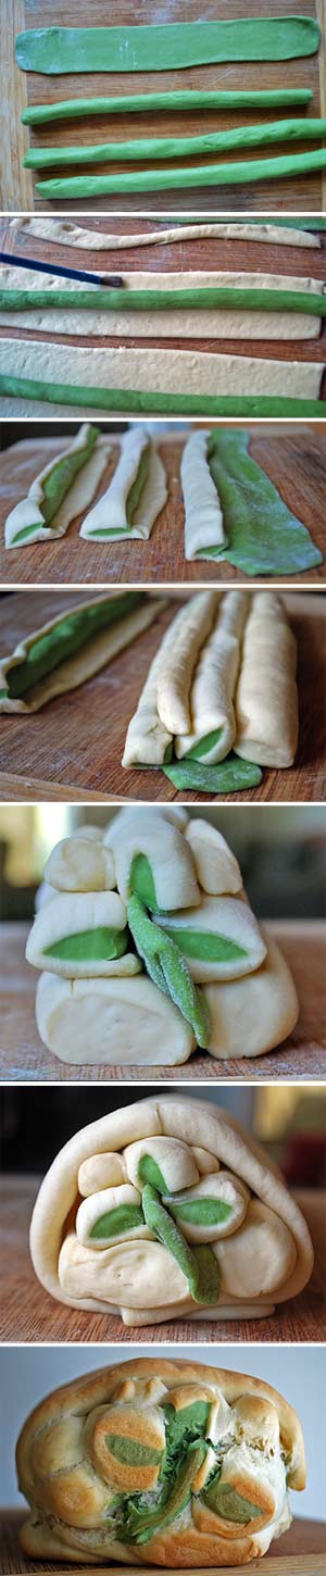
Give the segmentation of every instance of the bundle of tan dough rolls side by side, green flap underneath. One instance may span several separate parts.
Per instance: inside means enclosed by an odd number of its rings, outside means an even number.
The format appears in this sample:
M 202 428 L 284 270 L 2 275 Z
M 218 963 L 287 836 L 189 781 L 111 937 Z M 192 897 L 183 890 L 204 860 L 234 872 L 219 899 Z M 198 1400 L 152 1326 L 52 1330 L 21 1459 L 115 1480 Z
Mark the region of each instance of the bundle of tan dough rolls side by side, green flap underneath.
M 235 749 L 252 763 L 291 766 L 296 744 L 296 641 L 280 597 L 198 591 L 161 641 L 123 766 L 162 766 L 172 745 L 206 764 Z

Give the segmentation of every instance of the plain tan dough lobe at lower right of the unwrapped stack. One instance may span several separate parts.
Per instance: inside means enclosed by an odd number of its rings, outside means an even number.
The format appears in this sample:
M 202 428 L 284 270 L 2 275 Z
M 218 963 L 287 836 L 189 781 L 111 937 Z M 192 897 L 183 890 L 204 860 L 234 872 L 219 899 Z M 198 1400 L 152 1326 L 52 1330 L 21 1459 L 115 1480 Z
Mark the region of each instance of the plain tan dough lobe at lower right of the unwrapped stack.
M 266 958 L 255 974 L 205 987 L 211 1013 L 209 1056 L 263 1056 L 295 1029 L 299 1004 L 277 942 L 266 935 Z

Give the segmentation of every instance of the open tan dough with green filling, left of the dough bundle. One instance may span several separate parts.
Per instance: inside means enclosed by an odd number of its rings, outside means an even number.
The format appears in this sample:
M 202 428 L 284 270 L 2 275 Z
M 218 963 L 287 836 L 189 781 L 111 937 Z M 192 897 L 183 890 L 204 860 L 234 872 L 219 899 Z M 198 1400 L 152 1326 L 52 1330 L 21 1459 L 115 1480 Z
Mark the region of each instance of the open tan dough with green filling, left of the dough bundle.
M 146 629 L 159 604 L 142 591 L 110 591 L 58 613 L 0 662 L 0 712 L 33 712 L 99 673 Z

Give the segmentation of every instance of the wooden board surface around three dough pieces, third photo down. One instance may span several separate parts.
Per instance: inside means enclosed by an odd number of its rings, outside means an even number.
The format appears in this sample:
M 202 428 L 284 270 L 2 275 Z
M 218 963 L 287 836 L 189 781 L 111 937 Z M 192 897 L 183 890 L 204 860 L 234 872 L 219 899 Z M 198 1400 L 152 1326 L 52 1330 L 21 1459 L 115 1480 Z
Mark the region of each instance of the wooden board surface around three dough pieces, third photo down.
M 109 426 L 101 424 L 102 430 Z M 326 438 L 321 422 L 310 426 L 246 424 L 250 432 L 250 455 L 271 476 L 283 501 L 304 520 L 315 545 L 324 553 L 324 561 L 315 569 L 302 571 L 295 585 L 324 585 L 326 582 Z M 30 429 L 28 429 L 30 430 Z M 76 424 L 77 430 L 77 424 Z M 118 585 L 161 582 L 238 582 L 246 575 L 228 563 L 187 563 L 184 558 L 184 503 L 180 481 L 180 462 L 187 430 L 176 437 L 167 435 L 159 443 L 159 452 L 167 473 L 169 498 L 150 542 L 85 542 L 80 525 L 85 511 L 76 515 L 66 536 L 44 547 L 35 542 L 24 550 L 6 552 L 3 542 L 5 519 L 9 509 L 24 498 L 38 473 L 49 460 L 66 448 L 69 433 L 63 437 L 28 437 L 0 454 L 0 583 L 2 585 Z M 106 492 L 120 455 L 120 440 L 112 429 L 112 454 L 102 476 L 99 495 Z M 285 577 L 287 578 L 287 577 Z M 252 583 L 252 582 L 250 582 Z M 265 577 L 261 585 L 282 585 L 277 577 Z M 255 582 L 257 585 L 257 582 Z

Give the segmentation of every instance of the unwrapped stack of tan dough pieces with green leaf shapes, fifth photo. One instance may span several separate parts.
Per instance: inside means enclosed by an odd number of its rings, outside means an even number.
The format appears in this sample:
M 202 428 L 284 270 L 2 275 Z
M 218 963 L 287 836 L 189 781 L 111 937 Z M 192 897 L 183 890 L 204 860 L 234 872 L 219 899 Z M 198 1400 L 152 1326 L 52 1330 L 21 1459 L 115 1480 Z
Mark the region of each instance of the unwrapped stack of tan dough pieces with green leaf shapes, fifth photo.
M 39 1034 L 66 1062 L 257 1056 L 293 1029 L 288 968 L 263 936 L 224 837 L 183 808 L 126 808 L 46 865 L 27 958 Z

